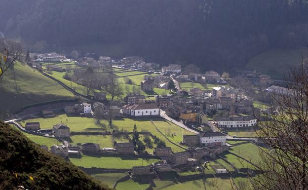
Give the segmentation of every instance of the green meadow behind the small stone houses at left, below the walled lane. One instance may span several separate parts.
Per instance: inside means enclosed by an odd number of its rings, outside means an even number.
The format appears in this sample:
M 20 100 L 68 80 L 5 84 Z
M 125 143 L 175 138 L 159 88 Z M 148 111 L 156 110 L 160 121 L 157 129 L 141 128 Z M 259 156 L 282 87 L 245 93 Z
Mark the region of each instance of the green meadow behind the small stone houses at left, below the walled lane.
M 106 131 L 111 130 L 108 126 L 107 120 L 101 120 L 101 124 L 96 124 L 94 118 L 79 117 L 79 116 L 68 116 L 67 114 L 57 115 L 53 118 L 35 118 L 27 119 L 21 124 L 25 125 L 26 122 L 39 122 L 41 129 L 51 129 L 53 125 L 63 122 L 70 131 Z

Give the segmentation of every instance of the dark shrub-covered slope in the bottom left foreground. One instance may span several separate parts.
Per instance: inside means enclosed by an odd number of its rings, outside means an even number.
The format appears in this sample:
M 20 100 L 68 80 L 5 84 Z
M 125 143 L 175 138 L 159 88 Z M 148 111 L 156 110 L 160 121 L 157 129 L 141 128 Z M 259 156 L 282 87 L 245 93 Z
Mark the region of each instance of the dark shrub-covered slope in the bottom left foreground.
M 0 122 L 0 189 L 107 190 L 64 159 Z

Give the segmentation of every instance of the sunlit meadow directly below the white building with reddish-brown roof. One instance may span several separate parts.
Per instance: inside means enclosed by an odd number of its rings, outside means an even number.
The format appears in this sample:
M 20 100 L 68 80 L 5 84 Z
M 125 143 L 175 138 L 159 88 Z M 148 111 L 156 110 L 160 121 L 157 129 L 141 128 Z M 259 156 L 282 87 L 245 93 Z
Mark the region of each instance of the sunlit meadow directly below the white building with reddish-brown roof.
M 189 132 L 185 129 L 182 129 L 181 127 L 168 122 L 162 118 L 153 118 L 154 124 L 157 126 L 157 128 L 167 136 L 167 138 L 174 142 L 181 142 L 183 134 L 193 134 L 192 132 Z M 151 121 L 148 118 L 118 118 L 117 120 L 113 121 L 113 124 L 116 125 L 116 128 L 119 130 L 127 130 L 128 132 L 133 131 L 134 124 L 137 125 L 138 131 L 147 131 L 151 132 L 153 135 L 157 136 L 159 139 L 165 141 L 167 147 L 171 147 L 171 149 L 174 152 L 182 152 L 184 149 L 177 147 L 173 145 L 172 143 L 168 142 L 166 138 L 159 133 L 154 125 L 151 123 Z M 175 136 L 172 137 L 172 134 L 175 134 Z

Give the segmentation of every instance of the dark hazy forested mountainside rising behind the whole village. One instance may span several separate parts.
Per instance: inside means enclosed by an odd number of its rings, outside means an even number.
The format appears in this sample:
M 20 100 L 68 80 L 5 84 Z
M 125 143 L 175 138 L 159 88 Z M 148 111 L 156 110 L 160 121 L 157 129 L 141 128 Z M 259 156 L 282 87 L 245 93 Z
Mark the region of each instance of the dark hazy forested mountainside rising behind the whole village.
M 307 0 L 0 0 L 0 32 L 34 44 L 230 71 L 308 41 Z

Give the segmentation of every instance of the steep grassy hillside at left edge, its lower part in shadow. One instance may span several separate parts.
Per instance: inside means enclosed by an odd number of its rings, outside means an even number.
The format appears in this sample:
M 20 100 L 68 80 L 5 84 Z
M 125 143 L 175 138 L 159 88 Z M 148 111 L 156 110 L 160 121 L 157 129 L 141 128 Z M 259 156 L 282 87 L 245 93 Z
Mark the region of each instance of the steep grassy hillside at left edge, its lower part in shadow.
M 0 112 L 14 113 L 26 105 L 70 98 L 74 98 L 70 91 L 19 62 L 0 82 Z

